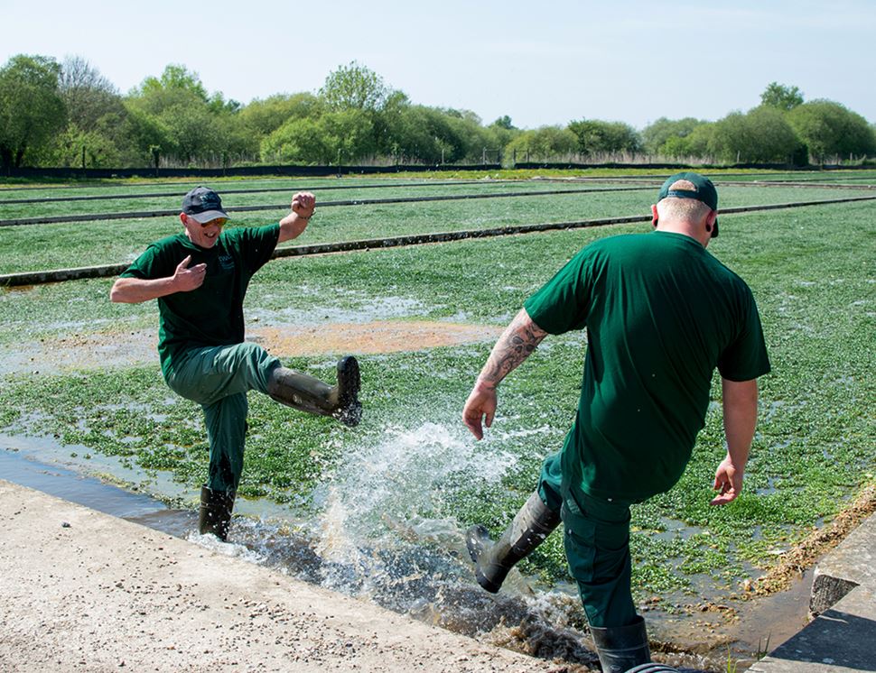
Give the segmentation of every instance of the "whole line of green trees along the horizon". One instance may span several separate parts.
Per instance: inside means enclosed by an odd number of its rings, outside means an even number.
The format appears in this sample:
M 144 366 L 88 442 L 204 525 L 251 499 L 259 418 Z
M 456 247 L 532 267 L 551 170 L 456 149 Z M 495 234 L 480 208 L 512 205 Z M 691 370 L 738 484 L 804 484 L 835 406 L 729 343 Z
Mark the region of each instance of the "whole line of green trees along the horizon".
M 244 106 L 168 65 L 122 95 L 79 56 L 19 54 L 0 69 L 0 165 L 139 168 L 519 161 L 805 165 L 876 157 L 876 127 L 840 103 L 770 83 L 760 105 L 717 121 L 661 117 L 641 131 L 580 119 L 518 129 L 416 105 L 356 61 L 315 93 Z

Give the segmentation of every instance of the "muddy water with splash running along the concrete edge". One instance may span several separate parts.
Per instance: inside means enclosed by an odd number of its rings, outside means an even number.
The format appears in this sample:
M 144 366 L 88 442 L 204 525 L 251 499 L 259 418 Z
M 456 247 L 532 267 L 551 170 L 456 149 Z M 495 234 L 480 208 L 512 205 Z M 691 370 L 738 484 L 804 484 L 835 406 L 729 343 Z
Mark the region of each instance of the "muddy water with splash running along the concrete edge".
M 50 439 L 0 436 L 0 477 L 129 521 L 273 567 L 303 581 L 372 600 L 455 632 L 479 635 L 546 659 L 595 665 L 572 585 L 550 591 L 516 570 L 499 595 L 471 576 L 461 530 L 454 521 L 413 516 L 425 506 L 424 480 L 447 465 L 477 461 L 440 426 L 396 430 L 363 453 L 332 486 L 314 493 L 322 515 L 313 521 L 267 503 L 239 500 L 231 543 L 196 532 L 197 493 L 161 475 L 135 475 L 111 458 L 86 458 L 81 447 Z M 496 469 L 494 458 L 472 469 Z M 104 481 L 94 476 L 104 475 Z M 405 475 L 398 480 L 394 475 Z M 110 476 L 111 475 L 111 476 Z M 107 484 L 111 478 L 127 488 Z M 134 484 L 134 485 L 132 485 Z M 405 485 L 414 484 L 414 485 Z M 171 506 L 140 491 L 154 493 Z M 375 534 L 375 530 L 380 530 Z M 655 659 L 687 671 L 725 671 L 728 655 L 747 668 L 758 650 L 787 640 L 806 623 L 808 577 L 769 599 L 715 605 L 701 587 L 701 604 L 672 615 L 648 610 Z M 689 604 L 690 597 L 663 597 Z M 728 618 L 735 613 L 738 619 Z M 519 624 L 508 628 L 508 624 Z

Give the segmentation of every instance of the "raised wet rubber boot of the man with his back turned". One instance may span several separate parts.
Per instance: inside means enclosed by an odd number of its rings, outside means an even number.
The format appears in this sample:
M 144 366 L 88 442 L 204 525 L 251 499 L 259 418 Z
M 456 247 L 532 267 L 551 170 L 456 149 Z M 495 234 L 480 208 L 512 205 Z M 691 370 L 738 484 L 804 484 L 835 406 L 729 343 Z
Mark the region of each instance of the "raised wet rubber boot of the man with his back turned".
M 478 584 L 491 594 L 498 592 L 508 571 L 544 542 L 559 524 L 559 512 L 547 509 L 536 492 L 529 496 L 495 544 L 486 528 L 472 526 L 465 534 L 465 545 L 475 563 Z

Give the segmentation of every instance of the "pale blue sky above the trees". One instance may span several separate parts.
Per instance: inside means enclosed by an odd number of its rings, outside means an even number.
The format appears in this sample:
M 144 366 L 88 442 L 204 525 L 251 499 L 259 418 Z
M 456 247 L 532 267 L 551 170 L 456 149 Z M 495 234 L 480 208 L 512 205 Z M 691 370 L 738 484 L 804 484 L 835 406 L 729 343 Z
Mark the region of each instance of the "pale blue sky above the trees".
M 876 122 L 876 0 L 0 0 L 0 63 L 84 57 L 123 93 L 168 63 L 248 103 L 351 60 L 415 103 L 521 128 L 718 119 L 771 81 Z

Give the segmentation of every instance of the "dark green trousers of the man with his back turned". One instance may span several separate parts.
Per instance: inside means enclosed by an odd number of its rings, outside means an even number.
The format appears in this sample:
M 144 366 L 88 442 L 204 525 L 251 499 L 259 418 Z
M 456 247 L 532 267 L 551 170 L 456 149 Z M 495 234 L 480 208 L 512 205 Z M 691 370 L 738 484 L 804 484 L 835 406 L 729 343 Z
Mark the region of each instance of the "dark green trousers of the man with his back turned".
M 629 585 L 629 502 L 594 498 L 564 484 L 561 456 L 545 458 L 538 493 L 563 518 L 569 574 L 588 622 L 597 628 L 626 626 L 637 616 Z

